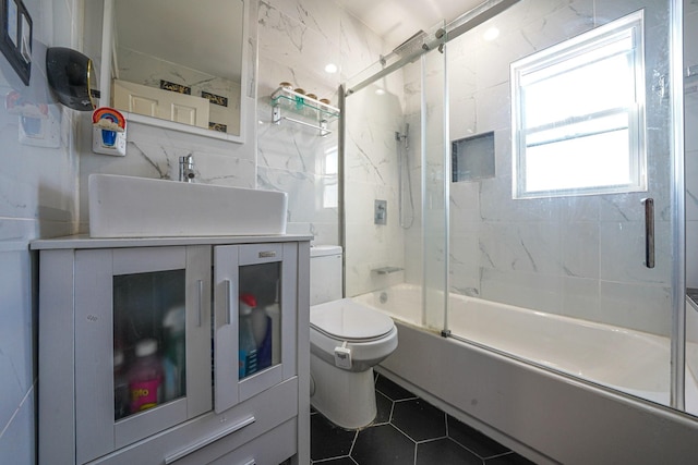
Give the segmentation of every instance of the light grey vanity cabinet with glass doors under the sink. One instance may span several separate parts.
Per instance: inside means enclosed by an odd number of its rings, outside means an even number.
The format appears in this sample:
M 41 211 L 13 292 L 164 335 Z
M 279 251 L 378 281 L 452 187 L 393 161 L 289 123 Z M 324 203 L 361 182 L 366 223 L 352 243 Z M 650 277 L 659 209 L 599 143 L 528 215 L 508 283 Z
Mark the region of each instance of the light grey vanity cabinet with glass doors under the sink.
M 34 242 L 39 464 L 309 463 L 309 238 Z

